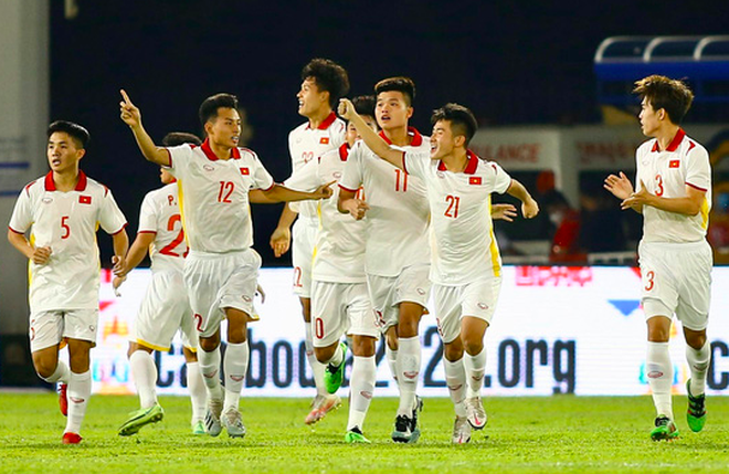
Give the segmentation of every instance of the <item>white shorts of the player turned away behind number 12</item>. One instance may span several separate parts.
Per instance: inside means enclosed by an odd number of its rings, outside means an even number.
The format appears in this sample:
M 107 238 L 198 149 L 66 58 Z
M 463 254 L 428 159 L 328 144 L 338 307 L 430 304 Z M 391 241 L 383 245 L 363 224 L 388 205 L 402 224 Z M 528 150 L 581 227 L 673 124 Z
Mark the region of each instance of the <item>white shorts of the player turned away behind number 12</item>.
M 192 309 L 182 272 L 173 270 L 152 273 L 129 340 L 155 350 L 168 351 L 180 329 L 184 347 L 198 348 L 198 334 L 192 324 Z

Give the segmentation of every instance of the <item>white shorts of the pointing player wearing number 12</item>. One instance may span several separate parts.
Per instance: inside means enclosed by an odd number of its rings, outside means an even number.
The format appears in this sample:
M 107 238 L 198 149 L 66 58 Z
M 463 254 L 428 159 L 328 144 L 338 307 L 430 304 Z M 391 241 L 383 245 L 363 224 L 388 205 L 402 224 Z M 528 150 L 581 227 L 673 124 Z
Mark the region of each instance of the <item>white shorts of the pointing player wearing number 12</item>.
M 200 337 L 211 337 L 225 318 L 224 308 L 235 308 L 257 319 L 253 307 L 261 256 L 242 252 L 205 253 L 191 251 L 184 260 L 184 284 L 190 297 L 193 323 Z

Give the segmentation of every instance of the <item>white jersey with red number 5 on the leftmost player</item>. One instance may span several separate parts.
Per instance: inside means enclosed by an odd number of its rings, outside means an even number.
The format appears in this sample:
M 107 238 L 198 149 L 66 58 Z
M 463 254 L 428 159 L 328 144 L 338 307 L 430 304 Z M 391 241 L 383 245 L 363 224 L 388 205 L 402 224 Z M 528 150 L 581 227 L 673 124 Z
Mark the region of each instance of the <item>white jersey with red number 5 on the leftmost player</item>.
M 99 257 L 96 230 L 116 234 L 127 225 L 112 192 L 78 173 L 76 188 L 55 189 L 53 172 L 25 186 L 10 218 L 10 230 L 31 231 L 35 247 L 50 246 L 43 265 L 30 261 L 31 312 L 98 309 Z

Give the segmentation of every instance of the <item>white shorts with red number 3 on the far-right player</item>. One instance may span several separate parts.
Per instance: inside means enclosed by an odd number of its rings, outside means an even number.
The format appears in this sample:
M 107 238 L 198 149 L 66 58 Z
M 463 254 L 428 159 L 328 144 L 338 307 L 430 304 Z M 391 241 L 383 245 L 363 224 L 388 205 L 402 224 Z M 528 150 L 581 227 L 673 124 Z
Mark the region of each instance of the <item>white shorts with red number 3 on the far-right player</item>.
M 706 329 L 714 265 L 708 242 L 641 242 L 638 255 L 645 318 L 675 314 L 685 328 Z

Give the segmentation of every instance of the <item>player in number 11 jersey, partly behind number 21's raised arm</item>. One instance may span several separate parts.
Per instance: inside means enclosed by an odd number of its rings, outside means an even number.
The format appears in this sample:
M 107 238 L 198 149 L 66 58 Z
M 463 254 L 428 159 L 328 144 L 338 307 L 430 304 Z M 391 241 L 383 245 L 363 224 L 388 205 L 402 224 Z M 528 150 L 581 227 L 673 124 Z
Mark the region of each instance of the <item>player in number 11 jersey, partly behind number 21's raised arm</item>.
M 402 150 L 427 150 L 427 140 L 408 124 L 415 97 L 413 82 L 389 77 L 374 85 L 374 93 L 380 136 Z M 414 443 L 420 438 L 418 411 L 422 409 L 415 396 L 421 366 L 418 329 L 431 289 L 425 188 L 420 179 L 379 159 L 361 141 L 352 147 L 339 187 L 339 210 L 355 218 L 367 215 L 364 267 L 370 299 L 400 390 L 392 439 Z M 360 187 L 367 202 L 357 199 Z

